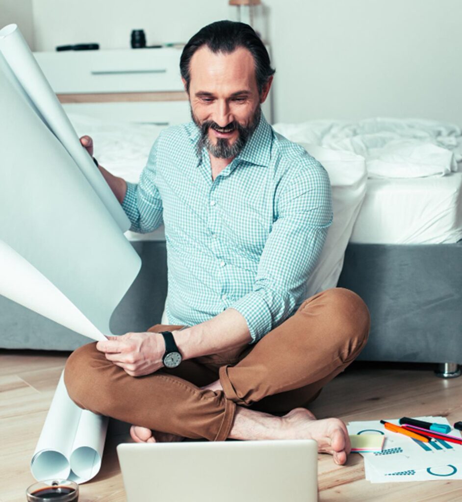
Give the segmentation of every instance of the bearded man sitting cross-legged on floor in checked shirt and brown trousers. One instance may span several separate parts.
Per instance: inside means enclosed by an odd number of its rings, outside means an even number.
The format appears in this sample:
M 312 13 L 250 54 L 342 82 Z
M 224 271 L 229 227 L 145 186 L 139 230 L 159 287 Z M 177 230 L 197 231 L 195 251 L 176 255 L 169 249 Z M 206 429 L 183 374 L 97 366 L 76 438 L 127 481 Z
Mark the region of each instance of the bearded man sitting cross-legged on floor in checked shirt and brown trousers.
M 131 230 L 165 225 L 169 324 L 74 351 L 69 395 L 138 442 L 314 439 L 343 464 L 344 423 L 307 406 L 370 319 L 345 289 L 303 297 L 332 221 L 327 173 L 265 120 L 274 70 L 250 26 L 204 27 L 180 70 L 192 121 L 160 134 L 138 184 L 99 167 Z

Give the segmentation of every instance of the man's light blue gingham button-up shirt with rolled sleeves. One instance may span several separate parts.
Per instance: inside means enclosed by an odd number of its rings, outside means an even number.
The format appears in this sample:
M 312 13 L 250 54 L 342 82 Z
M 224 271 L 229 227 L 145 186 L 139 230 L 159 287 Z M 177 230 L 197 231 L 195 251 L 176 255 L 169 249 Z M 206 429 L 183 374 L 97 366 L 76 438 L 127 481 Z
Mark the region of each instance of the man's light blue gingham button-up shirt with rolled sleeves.
M 194 122 L 164 130 L 122 207 L 133 231 L 165 225 L 169 321 L 193 326 L 233 308 L 255 343 L 304 299 L 332 221 L 329 178 L 263 115 L 214 181 L 199 138 Z

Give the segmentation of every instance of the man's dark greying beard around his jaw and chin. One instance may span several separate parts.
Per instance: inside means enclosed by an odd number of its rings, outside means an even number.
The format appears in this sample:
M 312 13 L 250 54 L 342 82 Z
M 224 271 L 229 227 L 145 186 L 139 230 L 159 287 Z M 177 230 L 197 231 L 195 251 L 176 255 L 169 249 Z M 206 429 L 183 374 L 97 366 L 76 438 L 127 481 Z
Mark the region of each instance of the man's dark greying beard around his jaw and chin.
M 209 128 L 204 130 L 204 128 L 200 126 L 199 121 L 196 119 L 191 109 L 191 117 L 201 131 L 201 137 L 197 144 L 197 152 L 200 154 L 202 148 L 205 147 L 207 151 L 216 159 L 230 159 L 236 157 L 245 147 L 252 133 L 257 129 L 258 123 L 260 122 L 261 111 L 262 110 L 259 105 L 248 126 L 241 126 L 241 124 L 237 124 L 239 136 L 232 145 L 229 145 L 228 140 L 225 138 L 218 138 L 216 145 L 213 145 L 208 137 Z

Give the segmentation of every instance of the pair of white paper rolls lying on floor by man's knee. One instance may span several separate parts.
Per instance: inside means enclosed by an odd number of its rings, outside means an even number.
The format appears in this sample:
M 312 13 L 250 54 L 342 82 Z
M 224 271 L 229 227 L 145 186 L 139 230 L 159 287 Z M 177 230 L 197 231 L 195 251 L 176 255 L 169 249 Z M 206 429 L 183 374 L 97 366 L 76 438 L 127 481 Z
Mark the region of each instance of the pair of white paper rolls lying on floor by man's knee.
M 84 483 L 101 467 L 107 418 L 81 410 L 68 396 L 63 373 L 31 461 L 37 480 Z

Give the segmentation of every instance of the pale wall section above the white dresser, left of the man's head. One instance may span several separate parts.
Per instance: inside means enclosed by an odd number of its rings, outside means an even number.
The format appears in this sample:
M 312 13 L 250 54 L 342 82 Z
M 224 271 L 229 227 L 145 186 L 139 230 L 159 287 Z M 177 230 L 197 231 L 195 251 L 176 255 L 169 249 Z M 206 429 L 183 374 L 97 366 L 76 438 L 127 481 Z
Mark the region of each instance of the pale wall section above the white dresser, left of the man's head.
M 33 0 L 36 50 L 97 42 L 129 48 L 132 30 L 147 45 L 186 42 L 202 26 L 226 19 L 227 0 Z

